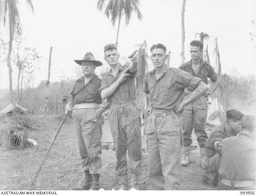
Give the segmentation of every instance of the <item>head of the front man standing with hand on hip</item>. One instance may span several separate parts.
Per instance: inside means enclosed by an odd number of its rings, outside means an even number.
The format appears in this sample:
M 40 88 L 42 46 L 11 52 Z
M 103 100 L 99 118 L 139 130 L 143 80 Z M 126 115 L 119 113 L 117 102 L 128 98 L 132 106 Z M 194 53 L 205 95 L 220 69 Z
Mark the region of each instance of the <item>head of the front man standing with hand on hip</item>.
M 166 59 L 168 58 L 168 55 L 166 55 L 166 46 L 162 45 L 162 43 L 154 44 L 151 46 L 150 51 L 150 58 L 155 68 L 166 65 Z

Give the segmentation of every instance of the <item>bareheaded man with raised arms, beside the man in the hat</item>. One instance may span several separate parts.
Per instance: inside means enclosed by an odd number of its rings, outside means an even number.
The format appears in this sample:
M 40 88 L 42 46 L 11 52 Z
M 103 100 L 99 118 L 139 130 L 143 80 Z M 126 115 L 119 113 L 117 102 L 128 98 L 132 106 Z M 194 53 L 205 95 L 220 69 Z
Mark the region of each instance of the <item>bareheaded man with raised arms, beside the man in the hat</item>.
M 134 78 L 137 73 L 137 56 L 132 63 L 121 66 L 118 62 L 119 54 L 114 44 L 104 47 L 105 60 L 110 70 L 102 76 L 102 99 L 110 102 L 108 120 L 114 139 L 116 162 L 116 175 L 119 190 L 128 190 L 127 170 L 129 168 L 131 189 L 139 188 L 139 174 L 142 170 L 142 138 L 140 112 L 135 105 Z M 128 151 L 128 168 L 127 155 Z

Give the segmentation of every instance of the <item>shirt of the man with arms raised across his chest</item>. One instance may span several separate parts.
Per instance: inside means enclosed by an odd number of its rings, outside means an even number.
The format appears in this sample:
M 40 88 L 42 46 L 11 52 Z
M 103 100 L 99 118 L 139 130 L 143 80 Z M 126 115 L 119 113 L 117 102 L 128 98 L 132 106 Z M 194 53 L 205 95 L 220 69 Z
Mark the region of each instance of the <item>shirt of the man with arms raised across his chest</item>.
M 100 90 L 106 89 L 111 84 L 113 84 L 122 74 L 122 71 L 125 70 L 127 66 L 121 66 L 118 67 L 118 73 L 116 74 L 116 77 L 114 77 L 112 70 L 109 70 L 102 76 L 102 86 Z M 127 71 L 127 74 L 130 74 L 126 78 L 124 82 L 122 82 L 118 88 L 114 91 L 114 94 L 108 98 L 108 102 L 114 102 L 114 103 L 122 103 L 122 102 L 131 102 L 135 100 L 136 97 L 136 89 L 135 89 L 135 83 L 134 78 L 136 76 L 137 71 L 131 73 L 129 70 Z

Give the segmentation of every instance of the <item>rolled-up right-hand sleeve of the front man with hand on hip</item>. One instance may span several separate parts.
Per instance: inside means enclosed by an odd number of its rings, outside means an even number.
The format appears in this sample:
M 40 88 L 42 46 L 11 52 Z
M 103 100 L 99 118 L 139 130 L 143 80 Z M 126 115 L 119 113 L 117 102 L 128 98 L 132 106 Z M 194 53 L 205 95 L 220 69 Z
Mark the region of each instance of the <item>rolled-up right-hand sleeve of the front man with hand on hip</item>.
M 200 78 L 194 77 L 183 70 L 178 70 L 176 74 L 175 83 L 180 88 L 190 88 L 191 90 L 194 90 L 198 87 L 199 82 L 202 81 Z

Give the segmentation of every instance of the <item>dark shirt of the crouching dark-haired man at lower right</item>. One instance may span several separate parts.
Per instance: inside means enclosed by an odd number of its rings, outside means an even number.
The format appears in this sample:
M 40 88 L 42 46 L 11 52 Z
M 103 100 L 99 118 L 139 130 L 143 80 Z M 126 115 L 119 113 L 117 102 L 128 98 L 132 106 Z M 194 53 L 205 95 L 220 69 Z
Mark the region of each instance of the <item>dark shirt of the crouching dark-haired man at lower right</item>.
M 224 138 L 229 137 L 229 134 L 226 130 L 225 124 L 216 126 L 214 130 L 210 132 L 210 135 L 206 141 L 206 155 L 213 156 L 217 153 L 214 148 L 214 143 L 217 141 L 222 141 Z

